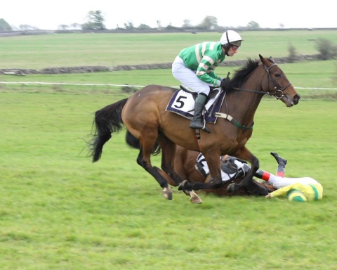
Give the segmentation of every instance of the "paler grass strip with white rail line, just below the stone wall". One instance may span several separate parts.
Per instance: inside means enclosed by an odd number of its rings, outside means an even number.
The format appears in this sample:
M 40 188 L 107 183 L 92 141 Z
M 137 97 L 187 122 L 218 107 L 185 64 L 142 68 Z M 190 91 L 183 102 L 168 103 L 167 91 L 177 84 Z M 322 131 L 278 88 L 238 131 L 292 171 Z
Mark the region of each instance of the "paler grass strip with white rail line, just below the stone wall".
M 292 64 L 279 64 L 284 73 L 296 87 L 302 98 L 335 98 L 337 89 L 336 60 L 308 61 Z M 231 72 L 234 76 L 239 67 L 219 67 L 219 75 Z M 116 94 L 121 93 L 120 85 L 140 86 L 161 84 L 179 86 L 171 70 L 133 70 L 116 72 L 95 72 L 65 75 L 0 75 L 0 82 L 22 82 L 22 84 L 0 84 L 0 91 L 24 91 L 34 93 L 70 93 L 70 94 Z M 54 84 L 25 84 L 25 82 L 46 82 Z M 82 84 L 82 85 L 69 85 Z M 84 85 L 98 84 L 98 85 Z M 100 85 L 102 84 L 102 85 Z M 116 86 L 114 86 L 116 85 Z

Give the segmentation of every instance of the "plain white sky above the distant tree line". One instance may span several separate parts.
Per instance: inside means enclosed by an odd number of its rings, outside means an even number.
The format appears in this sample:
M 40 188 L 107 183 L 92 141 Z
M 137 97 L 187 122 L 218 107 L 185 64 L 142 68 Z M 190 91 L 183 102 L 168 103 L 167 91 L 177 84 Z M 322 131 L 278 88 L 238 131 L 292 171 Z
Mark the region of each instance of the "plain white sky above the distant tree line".
M 59 25 L 86 23 L 89 11 L 102 11 L 107 29 L 124 23 L 154 28 L 157 21 L 162 27 L 181 27 L 184 20 L 199 25 L 206 16 L 216 17 L 223 27 L 246 26 L 251 21 L 263 28 L 337 27 L 331 0 L 15 0 L 1 4 L 0 19 L 14 27 L 57 30 Z

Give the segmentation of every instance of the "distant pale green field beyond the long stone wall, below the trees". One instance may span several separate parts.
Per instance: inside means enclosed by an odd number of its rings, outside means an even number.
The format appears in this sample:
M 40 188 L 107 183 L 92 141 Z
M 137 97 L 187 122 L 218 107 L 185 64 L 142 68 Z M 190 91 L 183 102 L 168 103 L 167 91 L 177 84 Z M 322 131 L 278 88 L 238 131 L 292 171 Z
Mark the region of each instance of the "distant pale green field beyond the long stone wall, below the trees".
M 337 30 L 240 32 L 239 53 L 227 60 L 288 56 L 291 44 L 299 54 L 315 54 L 315 40 L 337 43 Z M 185 46 L 217 41 L 221 33 L 46 34 L 2 37 L 0 68 L 51 68 L 81 65 L 170 63 Z

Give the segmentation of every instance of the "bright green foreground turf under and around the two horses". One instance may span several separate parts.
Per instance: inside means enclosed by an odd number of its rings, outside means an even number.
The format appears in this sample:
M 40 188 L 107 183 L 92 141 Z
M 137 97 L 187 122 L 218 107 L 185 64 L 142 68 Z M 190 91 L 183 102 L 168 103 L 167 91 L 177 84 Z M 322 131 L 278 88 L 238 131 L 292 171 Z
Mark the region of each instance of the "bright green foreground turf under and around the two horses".
M 315 203 L 165 200 L 124 134 L 86 157 L 93 112 L 124 95 L 0 93 L 1 269 L 336 269 L 336 102 L 264 98 L 247 144 L 275 172 L 324 186 Z M 159 159 L 154 158 L 154 165 Z

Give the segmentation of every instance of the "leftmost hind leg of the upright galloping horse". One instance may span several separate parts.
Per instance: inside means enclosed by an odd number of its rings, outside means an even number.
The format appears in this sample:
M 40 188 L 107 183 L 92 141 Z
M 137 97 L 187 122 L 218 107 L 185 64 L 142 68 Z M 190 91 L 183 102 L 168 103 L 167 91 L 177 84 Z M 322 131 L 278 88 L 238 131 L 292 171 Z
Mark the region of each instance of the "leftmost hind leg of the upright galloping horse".
M 147 150 L 144 150 L 145 148 L 140 147 L 140 152 L 137 158 L 137 163 L 141 167 L 143 167 L 149 174 L 151 174 L 154 179 L 157 180 L 161 188 L 163 188 L 163 195 L 164 198 L 168 200 L 172 200 L 172 189 L 167 183 L 166 179 L 164 176 L 162 176 L 159 172 L 159 168 L 157 167 L 152 167 L 151 165 L 151 160 L 150 160 L 150 155 L 151 155 L 151 150 L 152 148 L 147 148 Z M 149 151 L 150 150 L 150 151 Z

